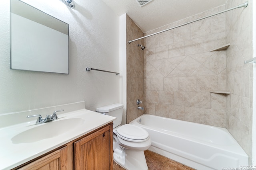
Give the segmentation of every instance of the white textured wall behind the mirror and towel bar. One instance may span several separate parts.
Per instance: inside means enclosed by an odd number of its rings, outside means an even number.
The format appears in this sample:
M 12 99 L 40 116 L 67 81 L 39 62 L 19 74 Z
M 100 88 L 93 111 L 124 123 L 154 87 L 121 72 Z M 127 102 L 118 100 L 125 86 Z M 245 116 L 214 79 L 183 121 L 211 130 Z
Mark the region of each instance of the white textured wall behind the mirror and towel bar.
M 10 2 L 0 6 L 0 114 L 85 101 L 86 108 L 119 102 L 119 17 L 101 0 L 23 0 L 69 24 L 70 74 L 10 70 Z

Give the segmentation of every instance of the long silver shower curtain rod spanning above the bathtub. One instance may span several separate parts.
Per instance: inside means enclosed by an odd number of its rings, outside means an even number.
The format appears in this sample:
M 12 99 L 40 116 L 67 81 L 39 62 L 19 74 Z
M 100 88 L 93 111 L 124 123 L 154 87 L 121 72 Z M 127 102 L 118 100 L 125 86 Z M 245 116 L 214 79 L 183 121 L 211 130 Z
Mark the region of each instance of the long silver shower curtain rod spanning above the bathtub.
M 165 29 L 165 30 L 163 30 L 163 31 L 159 31 L 159 32 L 157 32 L 157 33 L 152 33 L 152 34 L 150 34 L 150 35 L 146 35 L 146 36 L 141 37 L 141 38 L 137 38 L 137 39 L 134 39 L 134 40 L 130 40 L 130 41 L 128 41 L 128 43 L 130 44 L 130 43 L 132 43 L 133 41 L 137 41 L 137 40 L 140 40 L 140 39 L 143 39 L 143 38 L 146 38 L 146 37 L 150 37 L 150 36 L 152 36 L 152 35 L 156 35 L 156 34 L 159 34 L 159 33 L 165 32 L 165 31 L 169 31 L 169 30 L 171 30 L 171 29 L 178 28 L 178 27 L 181 27 L 181 26 L 184 26 L 184 25 L 187 25 L 187 24 L 189 24 L 189 23 L 196 22 L 196 21 L 200 21 L 200 20 L 203 20 L 203 19 L 205 19 L 205 18 L 209 18 L 209 17 L 212 17 L 212 16 L 216 16 L 216 15 L 218 15 L 218 14 L 222 14 L 222 13 L 224 13 L 224 12 L 228 12 L 228 11 L 234 10 L 234 9 L 236 9 L 236 8 L 242 8 L 242 7 L 246 8 L 247 6 L 248 6 L 248 1 L 244 2 L 243 4 L 238 5 L 238 6 L 236 6 L 236 7 L 229 8 L 229 9 L 227 9 L 227 10 L 224 10 L 224 11 L 221 11 L 221 12 L 217 12 L 217 13 L 215 13 L 215 14 L 212 14 L 212 15 L 209 15 L 209 16 L 206 16 L 206 17 L 203 17 L 203 18 L 199 18 L 199 19 L 197 19 L 197 20 L 193 20 L 193 21 L 190 21 L 190 22 L 187 22 L 187 23 L 183 23 L 183 24 L 178 25 L 178 26 L 176 26 L 176 27 L 168 28 L 168 29 Z

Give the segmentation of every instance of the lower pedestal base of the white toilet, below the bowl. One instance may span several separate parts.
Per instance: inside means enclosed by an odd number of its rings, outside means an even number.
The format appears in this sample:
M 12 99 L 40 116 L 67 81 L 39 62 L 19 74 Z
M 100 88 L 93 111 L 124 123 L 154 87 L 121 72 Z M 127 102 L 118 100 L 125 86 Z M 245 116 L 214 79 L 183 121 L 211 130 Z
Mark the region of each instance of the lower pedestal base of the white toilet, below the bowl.
M 148 170 L 143 150 L 116 148 L 113 157 L 114 161 L 126 170 Z

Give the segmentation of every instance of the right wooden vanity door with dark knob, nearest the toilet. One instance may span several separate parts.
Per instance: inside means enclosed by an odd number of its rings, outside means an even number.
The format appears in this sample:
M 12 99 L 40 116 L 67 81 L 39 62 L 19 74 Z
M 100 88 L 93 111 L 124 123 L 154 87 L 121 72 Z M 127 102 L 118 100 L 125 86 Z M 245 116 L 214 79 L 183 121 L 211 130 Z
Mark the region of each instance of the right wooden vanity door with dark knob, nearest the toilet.
M 112 170 L 112 124 L 74 143 L 75 170 Z

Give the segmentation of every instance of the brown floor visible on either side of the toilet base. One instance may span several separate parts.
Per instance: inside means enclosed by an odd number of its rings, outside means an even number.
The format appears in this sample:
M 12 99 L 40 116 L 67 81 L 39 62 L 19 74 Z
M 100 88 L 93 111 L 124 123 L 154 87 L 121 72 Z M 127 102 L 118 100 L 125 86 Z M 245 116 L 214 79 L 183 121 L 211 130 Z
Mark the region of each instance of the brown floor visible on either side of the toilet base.
M 148 164 L 148 170 L 194 170 L 193 168 L 180 164 L 179 162 L 149 150 L 145 150 L 144 153 Z M 114 162 L 113 170 L 125 169 Z

